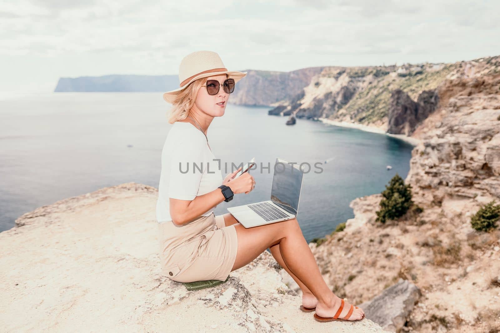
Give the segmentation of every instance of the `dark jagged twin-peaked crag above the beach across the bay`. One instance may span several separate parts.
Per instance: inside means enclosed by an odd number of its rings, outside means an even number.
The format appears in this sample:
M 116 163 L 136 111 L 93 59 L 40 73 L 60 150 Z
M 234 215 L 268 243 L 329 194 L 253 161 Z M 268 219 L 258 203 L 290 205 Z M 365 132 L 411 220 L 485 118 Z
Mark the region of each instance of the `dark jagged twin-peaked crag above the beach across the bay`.
M 434 112 L 438 101 L 436 90 L 422 91 L 416 102 L 401 89 L 392 90 L 387 132 L 410 136 L 416 126 Z

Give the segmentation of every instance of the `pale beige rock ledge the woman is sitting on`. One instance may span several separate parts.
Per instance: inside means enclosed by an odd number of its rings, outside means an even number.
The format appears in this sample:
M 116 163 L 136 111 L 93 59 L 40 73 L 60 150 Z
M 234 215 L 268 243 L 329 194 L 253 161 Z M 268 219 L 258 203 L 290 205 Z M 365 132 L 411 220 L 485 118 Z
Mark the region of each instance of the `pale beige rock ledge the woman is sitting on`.
M 0 233 L 3 332 L 384 332 L 317 323 L 263 252 L 224 284 L 161 275 L 157 190 L 127 183 L 26 213 Z

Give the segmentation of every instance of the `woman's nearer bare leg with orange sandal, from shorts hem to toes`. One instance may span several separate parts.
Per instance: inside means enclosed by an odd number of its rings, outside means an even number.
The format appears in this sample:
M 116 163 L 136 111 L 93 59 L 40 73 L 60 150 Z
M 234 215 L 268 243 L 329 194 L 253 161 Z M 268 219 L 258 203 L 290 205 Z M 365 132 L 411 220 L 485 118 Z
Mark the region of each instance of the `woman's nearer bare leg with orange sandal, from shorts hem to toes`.
M 340 307 L 340 299 L 324 282 L 296 219 L 248 229 L 238 223 L 234 224 L 234 229 L 238 237 L 238 250 L 231 271 L 245 266 L 265 249 L 279 244 L 279 251 L 285 265 L 318 300 L 316 314 L 320 317 L 335 315 Z M 345 317 L 348 312 L 349 304 L 346 303 L 338 318 Z M 354 309 L 349 320 L 361 319 L 363 313 L 362 309 Z

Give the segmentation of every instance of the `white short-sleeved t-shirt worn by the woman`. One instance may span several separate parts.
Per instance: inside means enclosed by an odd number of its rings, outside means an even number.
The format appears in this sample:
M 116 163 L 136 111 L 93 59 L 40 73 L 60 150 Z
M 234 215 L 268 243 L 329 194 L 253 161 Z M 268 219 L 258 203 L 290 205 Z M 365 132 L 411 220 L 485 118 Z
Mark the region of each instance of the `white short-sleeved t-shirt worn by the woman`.
M 158 223 L 172 220 L 168 198 L 193 200 L 222 185 L 222 172 L 215 159 L 205 135 L 198 128 L 188 122 L 172 124 L 161 151 L 156 202 Z M 201 215 L 209 216 L 213 208 Z

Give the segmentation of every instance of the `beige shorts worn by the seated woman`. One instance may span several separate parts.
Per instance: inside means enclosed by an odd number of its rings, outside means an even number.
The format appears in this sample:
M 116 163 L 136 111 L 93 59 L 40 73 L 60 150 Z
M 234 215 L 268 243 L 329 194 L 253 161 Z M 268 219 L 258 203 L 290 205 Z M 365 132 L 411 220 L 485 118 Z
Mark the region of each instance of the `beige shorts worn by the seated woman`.
M 160 248 L 165 238 L 166 223 L 158 223 Z M 215 216 L 213 213 L 201 216 L 193 223 L 208 223 L 213 227 L 176 246 L 170 253 L 160 251 L 162 273 L 176 282 L 225 281 L 238 249 L 234 225 L 226 227 L 223 215 Z

